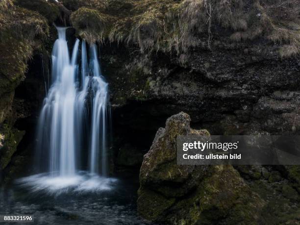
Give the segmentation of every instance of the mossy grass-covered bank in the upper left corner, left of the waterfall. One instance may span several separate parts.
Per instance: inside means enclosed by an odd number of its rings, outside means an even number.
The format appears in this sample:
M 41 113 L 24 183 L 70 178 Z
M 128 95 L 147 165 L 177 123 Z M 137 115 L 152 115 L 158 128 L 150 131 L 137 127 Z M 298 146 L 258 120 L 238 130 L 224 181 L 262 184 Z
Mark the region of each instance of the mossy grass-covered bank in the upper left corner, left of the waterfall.
M 34 11 L 0 2 L 0 95 L 22 80 L 26 62 L 48 33 L 47 21 Z

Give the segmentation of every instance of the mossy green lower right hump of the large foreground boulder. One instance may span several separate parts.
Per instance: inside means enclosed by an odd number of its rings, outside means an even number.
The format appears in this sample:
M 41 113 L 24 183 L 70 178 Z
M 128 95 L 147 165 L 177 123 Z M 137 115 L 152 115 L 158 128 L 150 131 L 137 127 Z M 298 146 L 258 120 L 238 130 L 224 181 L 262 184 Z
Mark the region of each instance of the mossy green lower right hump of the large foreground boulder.
M 198 188 L 175 203 L 176 214 L 162 221 L 174 224 L 258 224 L 264 205 L 231 166 L 211 166 Z M 256 222 L 253 220 L 255 218 Z

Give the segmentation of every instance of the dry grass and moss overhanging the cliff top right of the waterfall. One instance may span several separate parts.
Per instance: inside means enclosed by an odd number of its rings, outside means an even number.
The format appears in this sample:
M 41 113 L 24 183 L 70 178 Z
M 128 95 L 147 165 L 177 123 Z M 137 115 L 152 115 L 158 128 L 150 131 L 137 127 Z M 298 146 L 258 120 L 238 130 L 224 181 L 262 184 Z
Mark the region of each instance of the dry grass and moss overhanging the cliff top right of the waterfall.
M 298 0 L 63 0 L 88 42 L 136 43 L 141 51 L 184 53 L 214 40 L 247 42 L 263 38 L 281 57 L 300 52 Z

